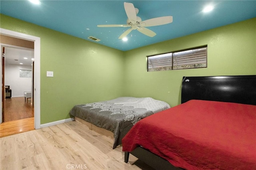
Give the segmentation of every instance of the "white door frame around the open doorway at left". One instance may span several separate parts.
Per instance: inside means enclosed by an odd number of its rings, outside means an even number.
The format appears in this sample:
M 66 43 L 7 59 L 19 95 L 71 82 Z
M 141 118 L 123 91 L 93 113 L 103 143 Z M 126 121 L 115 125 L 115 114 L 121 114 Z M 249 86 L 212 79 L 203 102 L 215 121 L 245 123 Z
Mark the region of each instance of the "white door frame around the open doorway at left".
M 19 38 L 23 40 L 28 40 L 34 42 L 34 128 L 39 129 L 40 124 L 40 37 L 31 36 L 28 34 L 23 34 L 20 32 L 14 32 L 10 30 L 6 30 L 0 28 L 0 34 L 4 36 Z M 1 49 L 2 50 L 2 49 Z M 1 56 L 2 57 L 2 56 Z M 2 65 L 2 58 L 1 58 Z M 0 69 L 2 75 L 2 70 Z M 2 79 L 1 79 L 2 84 Z M 2 90 L 0 91 L 0 95 L 2 96 Z M 2 98 L 1 98 L 1 109 L 2 109 Z M 0 116 L 0 123 L 2 123 L 2 111 Z

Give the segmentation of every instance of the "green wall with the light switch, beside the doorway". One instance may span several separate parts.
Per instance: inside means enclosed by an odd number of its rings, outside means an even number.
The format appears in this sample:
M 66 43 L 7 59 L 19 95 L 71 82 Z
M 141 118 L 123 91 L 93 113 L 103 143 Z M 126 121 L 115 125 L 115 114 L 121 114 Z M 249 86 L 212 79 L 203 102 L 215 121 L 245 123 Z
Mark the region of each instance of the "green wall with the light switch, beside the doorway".
M 124 92 L 124 52 L 1 14 L 1 28 L 40 37 L 41 124 L 69 118 L 76 104 Z M 54 77 L 46 77 L 54 71 Z

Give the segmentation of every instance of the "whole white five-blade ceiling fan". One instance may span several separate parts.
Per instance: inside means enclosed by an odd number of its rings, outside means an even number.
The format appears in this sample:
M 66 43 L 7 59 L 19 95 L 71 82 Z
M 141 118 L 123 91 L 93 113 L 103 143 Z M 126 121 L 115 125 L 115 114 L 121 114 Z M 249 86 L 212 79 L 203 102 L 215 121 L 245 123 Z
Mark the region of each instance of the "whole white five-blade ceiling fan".
M 132 30 L 138 30 L 146 36 L 154 37 L 156 33 L 145 27 L 160 26 L 172 22 L 172 16 L 163 16 L 142 21 L 141 18 L 137 16 L 139 12 L 138 8 L 134 8 L 132 3 L 124 2 L 124 9 L 128 17 L 126 25 L 98 25 L 98 27 L 131 27 L 126 30 L 119 39 L 126 37 Z

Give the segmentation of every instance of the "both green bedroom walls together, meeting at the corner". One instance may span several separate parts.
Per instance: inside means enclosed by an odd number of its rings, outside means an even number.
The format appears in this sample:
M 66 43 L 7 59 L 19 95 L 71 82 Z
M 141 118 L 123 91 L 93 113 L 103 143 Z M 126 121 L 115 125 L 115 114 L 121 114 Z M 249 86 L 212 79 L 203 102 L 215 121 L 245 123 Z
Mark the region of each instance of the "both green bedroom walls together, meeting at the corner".
M 256 18 L 119 51 L 1 14 L 0 27 L 41 38 L 41 124 L 69 118 L 80 103 L 120 96 L 180 103 L 183 76 L 256 75 Z M 146 71 L 146 55 L 208 45 L 208 67 Z M 54 77 L 46 77 L 54 71 Z

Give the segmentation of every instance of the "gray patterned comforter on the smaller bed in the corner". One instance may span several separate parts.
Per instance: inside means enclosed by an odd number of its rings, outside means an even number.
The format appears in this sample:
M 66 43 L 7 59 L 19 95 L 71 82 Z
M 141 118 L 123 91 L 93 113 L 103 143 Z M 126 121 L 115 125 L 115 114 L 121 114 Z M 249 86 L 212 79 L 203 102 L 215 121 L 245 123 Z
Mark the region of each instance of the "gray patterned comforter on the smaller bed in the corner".
M 140 119 L 170 108 L 164 101 L 151 97 L 118 97 L 109 101 L 76 105 L 70 115 L 114 133 L 113 149 Z

